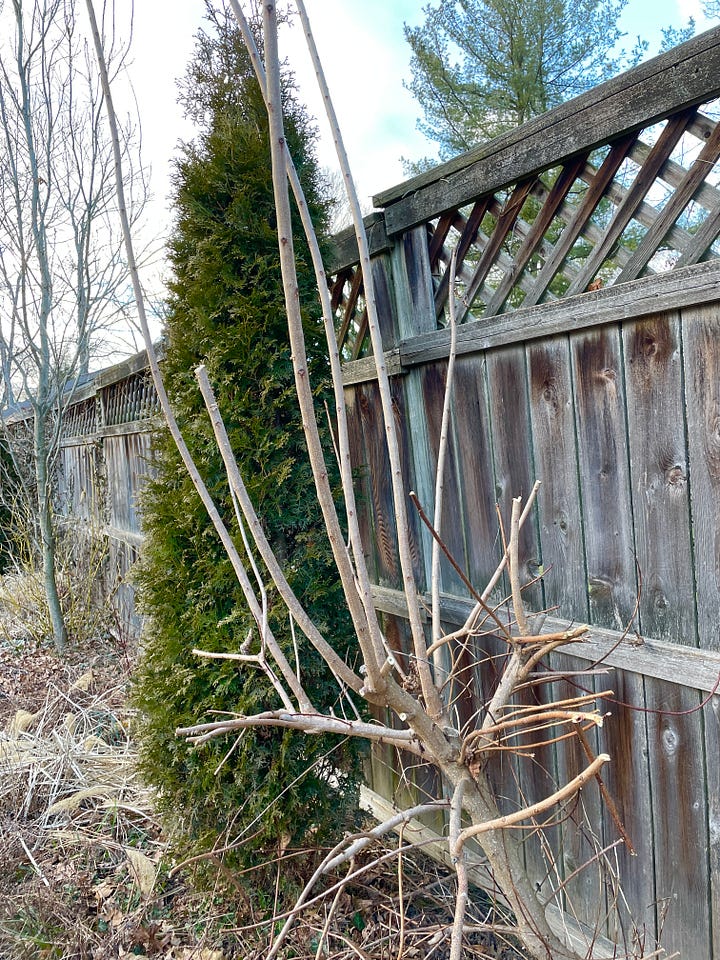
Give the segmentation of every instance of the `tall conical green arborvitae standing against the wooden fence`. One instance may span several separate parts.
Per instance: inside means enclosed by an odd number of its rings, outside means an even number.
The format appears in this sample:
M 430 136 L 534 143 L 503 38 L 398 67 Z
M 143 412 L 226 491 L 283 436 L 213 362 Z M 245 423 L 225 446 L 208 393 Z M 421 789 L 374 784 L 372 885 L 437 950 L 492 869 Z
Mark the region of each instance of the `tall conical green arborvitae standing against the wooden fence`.
M 351 628 L 295 401 L 265 108 L 234 26 L 222 16 L 212 20 L 198 38 L 184 86 L 188 112 L 200 122 L 201 133 L 184 147 L 177 164 L 163 372 L 190 450 L 230 529 L 237 530 L 193 376 L 198 363 L 207 366 L 270 542 L 321 630 L 343 648 Z M 286 100 L 288 142 L 322 229 L 311 131 L 289 84 Z M 326 347 L 309 255 L 296 234 L 308 355 L 314 382 L 325 383 L 318 390 L 321 406 L 327 393 Z M 166 434 L 143 511 L 147 539 L 139 586 L 150 621 L 135 686 L 143 716 L 141 763 L 145 776 L 160 787 L 164 809 L 182 824 L 186 850 L 244 834 L 233 856 L 246 864 L 271 859 L 279 847 L 319 845 L 337 836 L 355 800 L 357 758 L 347 743 L 248 730 L 216 772 L 232 738 L 193 748 L 175 736 L 176 727 L 207 719 L 213 710 L 251 713 L 280 704 L 258 670 L 191 653 L 193 647 L 237 650 L 252 623 L 230 563 Z M 239 534 L 236 540 L 241 543 Z M 270 621 L 294 663 L 287 615 L 274 599 Z M 257 631 L 253 635 L 257 649 Z M 304 641 L 299 631 L 298 639 Z M 314 701 L 333 702 L 336 687 L 306 642 L 300 661 Z

